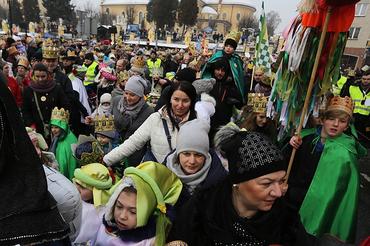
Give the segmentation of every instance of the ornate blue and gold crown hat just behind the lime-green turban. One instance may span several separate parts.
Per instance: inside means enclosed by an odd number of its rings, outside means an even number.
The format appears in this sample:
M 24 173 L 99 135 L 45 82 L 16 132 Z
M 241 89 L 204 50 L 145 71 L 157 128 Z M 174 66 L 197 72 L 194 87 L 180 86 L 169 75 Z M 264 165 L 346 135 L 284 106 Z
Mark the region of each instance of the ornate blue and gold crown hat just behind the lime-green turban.
M 91 142 L 92 151 L 83 152 L 81 154 L 80 159 L 78 159 L 76 157 L 76 149 L 78 148 L 78 146 L 80 146 L 81 144 L 84 144 L 85 142 Z M 96 141 L 96 139 L 92 135 L 90 136 L 80 135 L 78 137 L 78 142 L 71 144 L 71 149 L 72 149 L 73 157 L 79 163 L 81 163 L 82 166 L 85 166 L 90 163 L 101 163 L 104 157 L 103 149 L 100 147 L 100 144 Z

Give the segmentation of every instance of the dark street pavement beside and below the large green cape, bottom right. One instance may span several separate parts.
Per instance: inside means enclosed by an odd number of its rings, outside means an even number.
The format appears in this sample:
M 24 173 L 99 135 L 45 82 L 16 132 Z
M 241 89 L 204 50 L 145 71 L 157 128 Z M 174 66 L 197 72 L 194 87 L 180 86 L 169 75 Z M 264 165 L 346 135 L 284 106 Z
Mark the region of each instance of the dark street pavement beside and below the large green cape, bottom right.
M 368 154 L 360 159 L 360 207 L 358 215 L 356 243 L 359 246 L 370 236 L 370 149 Z M 344 246 L 332 236 L 325 235 L 316 240 L 315 246 Z

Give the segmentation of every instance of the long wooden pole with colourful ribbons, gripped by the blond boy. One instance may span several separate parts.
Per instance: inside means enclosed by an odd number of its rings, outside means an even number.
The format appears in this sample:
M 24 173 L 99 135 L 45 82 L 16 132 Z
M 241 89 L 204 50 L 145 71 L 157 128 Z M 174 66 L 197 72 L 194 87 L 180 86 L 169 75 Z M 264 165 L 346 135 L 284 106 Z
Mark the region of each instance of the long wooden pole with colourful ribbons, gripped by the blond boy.
M 312 87 L 313 87 L 313 83 L 314 83 L 314 80 L 315 80 L 315 75 L 316 75 L 316 72 L 317 72 L 317 67 L 319 66 L 320 56 L 321 56 L 321 52 L 323 50 L 325 36 L 326 36 L 327 30 L 328 30 L 328 24 L 329 24 L 329 19 L 330 19 L 331 14 L 332 14 L 332 6 L 329 5 L 329 9 L 328 9 L 328 12 L 326 14 L 326 18 L 325 18 L 325 22 L 324 22 L 324 26 L 323 26 L 323 32 L 321 33 L 321 37 L 320 37 L 319 48 L 318 48 L 317 53 L 316 53 L 315 64 L 313 66 L 310 83 L 308 85 L 308 89 L 307 89 L 307 93 L 306 93 L 306 100 L 304 101 L 302 114 L 301 114 L 299 125 L 298 125 L 298 130 L 297 130 L 297 133 L 298 133 L 297 137 L 298 138 L 300 136 L 300 132 L 302 131 L 303 121 L 304 121 L 304 118 L 305 118 L 305 115 L 306 115 L 306 112 L 307 112 L 309 97 L 311 96 Z M 295 155 L 296 155 L 296 149 L 293 148 L 292 156 L 291 156 L 291 159 L 289 161 L 289 166 L 288 166 L 288 170 L 287 170 L 286 180 L 284 182 L 284 186 L 287 186 L 288 178 L 289 178 L 289 175 L 290 175 L 290 172 L 291 172 L 291 169 L 292 169 L 292 164 L 293 164 L 293 160 L 294 160 Z

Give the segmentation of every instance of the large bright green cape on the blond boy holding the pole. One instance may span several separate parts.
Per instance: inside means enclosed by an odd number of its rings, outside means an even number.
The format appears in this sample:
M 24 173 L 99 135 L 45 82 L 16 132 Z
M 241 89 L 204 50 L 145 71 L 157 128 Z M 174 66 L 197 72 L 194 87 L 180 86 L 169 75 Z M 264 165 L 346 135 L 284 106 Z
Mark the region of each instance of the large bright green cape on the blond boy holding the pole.
M 317 128 L 301 136 L 317 134 Z M 354 244 L 360 196 L 359 160 L 366 149 L 341 133 L 326 139 L 311 185 L 299 210 L 306 231 L 316 237 L 331 234 Z

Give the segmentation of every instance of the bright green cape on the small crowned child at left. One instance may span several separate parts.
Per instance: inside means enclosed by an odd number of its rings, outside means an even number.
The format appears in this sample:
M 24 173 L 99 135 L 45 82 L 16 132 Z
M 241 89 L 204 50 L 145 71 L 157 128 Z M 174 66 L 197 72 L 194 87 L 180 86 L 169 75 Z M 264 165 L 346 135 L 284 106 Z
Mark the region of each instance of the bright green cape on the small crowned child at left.
M 51 125 L 56 125 L 65 131 L 65 134 L 59 136 L 55 157 L 60 166 L 60 172 L 72 181 L 74 178 L 74 170 L 78 168 L 78 161 L 72 156 L 72 143 L 77 143 L 78 140 L 70 131 L 70 126 L 61 120 L 50 120 L 49 128 Z

